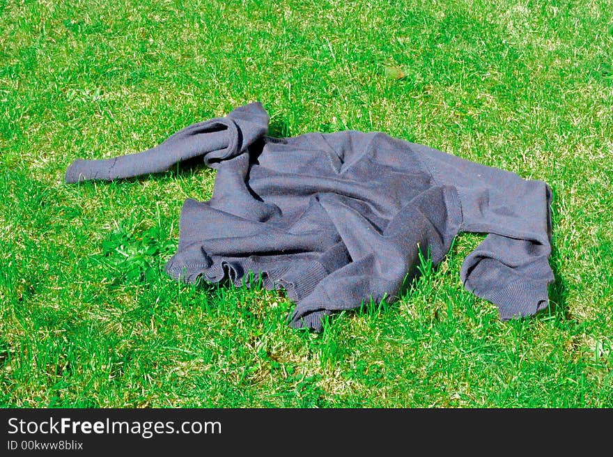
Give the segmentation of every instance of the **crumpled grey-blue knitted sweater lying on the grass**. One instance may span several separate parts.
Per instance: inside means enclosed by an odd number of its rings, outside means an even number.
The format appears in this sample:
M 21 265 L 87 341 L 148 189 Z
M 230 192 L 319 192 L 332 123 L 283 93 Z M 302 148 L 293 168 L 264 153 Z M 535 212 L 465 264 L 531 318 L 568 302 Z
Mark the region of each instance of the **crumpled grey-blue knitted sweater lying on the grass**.
M 187 283 L 261 279 L 284 288 L 292 327 L 371 301 L 393 302 L 419 256 L 440 263 L 460 232 L 487 233 L 464 260 L 463 285 L 499 317 L 548 305 L 548 185 L 382 132 L 267 136 L 261 103 L 173 134 L 141 153 L 75 160 L 65 183 L 114 180 L 203 160 L 208 201 L 187 199 L 166 272 Z M 249 274 L 252 272 L 253 274 Z

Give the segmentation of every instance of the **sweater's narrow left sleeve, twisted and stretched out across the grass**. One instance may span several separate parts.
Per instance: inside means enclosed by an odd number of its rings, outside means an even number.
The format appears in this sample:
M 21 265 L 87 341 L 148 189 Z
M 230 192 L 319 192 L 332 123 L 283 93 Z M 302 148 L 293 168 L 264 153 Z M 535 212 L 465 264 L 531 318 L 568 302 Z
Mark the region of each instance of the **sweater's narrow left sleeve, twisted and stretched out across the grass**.
M 259 102 L 245 104 L 227 116 L 189 125 L 162 144 L 141 153 L 102 160 L 77 159 L 66 170 L 65 183 L 83 180 L 114 180 L 161 173 L 185 160 L 202 157 L 215 164 L 242 153 L 266 134 L 268 115 Z

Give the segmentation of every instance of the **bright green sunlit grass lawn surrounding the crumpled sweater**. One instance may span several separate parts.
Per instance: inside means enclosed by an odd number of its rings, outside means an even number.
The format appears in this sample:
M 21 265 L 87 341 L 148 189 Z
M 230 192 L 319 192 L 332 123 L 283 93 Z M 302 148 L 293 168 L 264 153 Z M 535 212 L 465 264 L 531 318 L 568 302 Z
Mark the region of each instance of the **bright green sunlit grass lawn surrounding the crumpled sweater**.
M 252 100 L 278 136 L 381 130 L 547 181 L 550 307 L 502 323 L 463 234 L 399 302 L 292 330 L 281 292 L 163 272 L 214 171 L 63 184 Z M 0 405 L 613 407 L 612 181 L 610 0 L 0 0 Z

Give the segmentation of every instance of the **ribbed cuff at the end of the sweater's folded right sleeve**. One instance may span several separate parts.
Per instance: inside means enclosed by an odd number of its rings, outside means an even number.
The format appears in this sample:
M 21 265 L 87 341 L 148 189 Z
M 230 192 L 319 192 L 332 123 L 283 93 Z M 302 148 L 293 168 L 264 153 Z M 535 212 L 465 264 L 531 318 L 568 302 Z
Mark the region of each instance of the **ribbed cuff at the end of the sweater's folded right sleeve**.
M 484 298 L 497 305 L 502 320 L 522 318 L 548 306 L 547 286 L 546 279 L 518 279 Z

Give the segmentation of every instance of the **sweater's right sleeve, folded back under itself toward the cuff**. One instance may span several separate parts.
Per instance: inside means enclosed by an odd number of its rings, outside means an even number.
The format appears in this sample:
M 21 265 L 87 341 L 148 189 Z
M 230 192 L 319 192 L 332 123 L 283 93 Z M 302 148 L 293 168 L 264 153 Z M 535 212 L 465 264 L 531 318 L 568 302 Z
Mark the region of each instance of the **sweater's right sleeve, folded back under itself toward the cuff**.
M 547 307 L 554 281 L 549 186 L 426 146 L 412 148 L 437 183 L 458 190 L 460 231 L 488 233 L 463 262 L 465 288 L 496 304 L 502 320 Z

